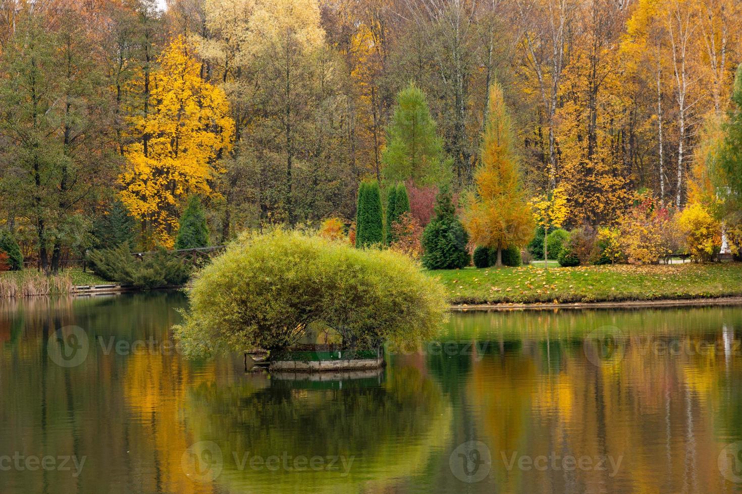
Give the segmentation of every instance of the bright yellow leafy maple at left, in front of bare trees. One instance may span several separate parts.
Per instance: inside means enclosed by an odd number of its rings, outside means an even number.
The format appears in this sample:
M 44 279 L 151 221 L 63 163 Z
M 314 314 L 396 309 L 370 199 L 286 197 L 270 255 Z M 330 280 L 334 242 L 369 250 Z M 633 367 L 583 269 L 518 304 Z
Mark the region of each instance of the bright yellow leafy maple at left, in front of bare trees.
M 174 39 L 152 74 L 149 108 L 131 117 L 119 176 L 121 199 L 142 221 L 142 247 L 171 248 L 185 199 L 211 196 L 232 146 L 234 121 L 224 91 L 200 78 L 200 64 L 183 36 Z

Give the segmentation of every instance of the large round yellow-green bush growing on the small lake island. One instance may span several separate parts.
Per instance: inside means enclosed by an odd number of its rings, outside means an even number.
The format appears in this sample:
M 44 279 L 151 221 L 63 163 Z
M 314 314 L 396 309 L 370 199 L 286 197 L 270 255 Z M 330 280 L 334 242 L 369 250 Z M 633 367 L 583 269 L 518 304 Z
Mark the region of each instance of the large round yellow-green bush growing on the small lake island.
M 246 234 L 197 274 L 174 327 L 186 356 L 296 344 L 312 324 L 353 350 L 430 338 L 446 316 L 441 284 L 410 258 L 294 231 Z

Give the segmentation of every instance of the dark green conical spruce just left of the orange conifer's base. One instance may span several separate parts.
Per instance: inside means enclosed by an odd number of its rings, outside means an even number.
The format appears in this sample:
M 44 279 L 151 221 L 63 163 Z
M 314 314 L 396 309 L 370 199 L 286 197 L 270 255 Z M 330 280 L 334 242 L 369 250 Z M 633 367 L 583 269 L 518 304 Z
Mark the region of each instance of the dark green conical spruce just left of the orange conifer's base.
M 422 233 L 422 264 L 429 270 L 451 270 L 469 265 L 469 236 L 453 207 L 447 185 L 436 198 L 436 216 Z

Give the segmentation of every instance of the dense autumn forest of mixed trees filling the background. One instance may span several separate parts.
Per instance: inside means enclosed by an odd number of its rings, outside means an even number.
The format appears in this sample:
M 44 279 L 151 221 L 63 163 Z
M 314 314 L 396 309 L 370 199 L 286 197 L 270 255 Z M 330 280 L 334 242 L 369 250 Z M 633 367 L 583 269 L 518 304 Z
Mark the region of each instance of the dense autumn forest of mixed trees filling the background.
M 352 228 L 365 178 L 384 196 L 404 182 L 424 221 L 444 183 L 471 199 L 493 94 L 522 196 L 558 190 L 565 227 L 617 224 L 637 197 L 671 214 L 721 201 L 735 0 L 0 5 L 0 221 L 42 267 L 111 247 L 96 232 L 115 211 L 139 250 L 172 248 L 192 196 L 211 244 Z M 430 130 L 412 151 L 405 109 Z

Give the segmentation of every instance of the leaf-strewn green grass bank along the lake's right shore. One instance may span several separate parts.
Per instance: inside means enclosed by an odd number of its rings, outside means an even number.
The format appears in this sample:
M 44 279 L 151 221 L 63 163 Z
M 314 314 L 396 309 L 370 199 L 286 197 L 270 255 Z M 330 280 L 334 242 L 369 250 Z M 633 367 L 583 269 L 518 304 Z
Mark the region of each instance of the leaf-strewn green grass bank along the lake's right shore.
M 429 271 L 453 304 L 588 302 L 742 295 L 742 264 L 489 267 Z

